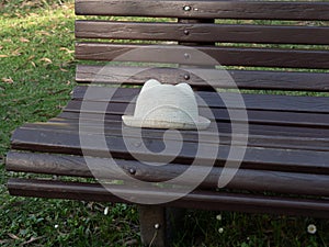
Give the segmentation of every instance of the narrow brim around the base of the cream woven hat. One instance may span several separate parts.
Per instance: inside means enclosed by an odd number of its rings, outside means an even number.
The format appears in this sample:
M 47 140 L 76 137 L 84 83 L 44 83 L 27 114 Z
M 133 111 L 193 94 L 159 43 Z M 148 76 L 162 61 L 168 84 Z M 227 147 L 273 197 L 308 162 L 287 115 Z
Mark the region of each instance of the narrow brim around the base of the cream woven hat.
M 133 115 L 123 115 L 124 124 L 132 127 L 149 127 L 149 128 L 175 128 L 175 130 L 205 130 L 211 125 L 211 121 L 198 116 L 197 122 L 173 122 L 160 120 L 144 120 Z

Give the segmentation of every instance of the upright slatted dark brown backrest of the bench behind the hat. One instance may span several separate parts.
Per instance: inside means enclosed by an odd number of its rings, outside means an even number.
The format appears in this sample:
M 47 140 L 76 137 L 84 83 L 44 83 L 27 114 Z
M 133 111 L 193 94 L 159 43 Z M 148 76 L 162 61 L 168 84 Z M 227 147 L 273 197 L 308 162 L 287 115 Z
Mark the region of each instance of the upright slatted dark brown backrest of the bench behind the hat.
M 76 0 L 76 13 L 99 16 L 76 22 L 78 59 L 214 67 L 194 59 L 184 45 L 228 68 L 240 89 L 329 90 L 326 1 Z M 124 56 L 136 49 L 144 55 Z M 260 72 L 264 67 L 272 69 Z M 77 81 L 90 82 L 98 75 L 99 82 L 111 82 L 109 75 L 100 76 L 100 68 L 78 66 Z M 151 75 L 162 82 L 203 83 L 177 69 L 154 69 Z M 147 77 L 121 79 L 143 83 Z M 230 88 L 225 80 L 213 83 Z

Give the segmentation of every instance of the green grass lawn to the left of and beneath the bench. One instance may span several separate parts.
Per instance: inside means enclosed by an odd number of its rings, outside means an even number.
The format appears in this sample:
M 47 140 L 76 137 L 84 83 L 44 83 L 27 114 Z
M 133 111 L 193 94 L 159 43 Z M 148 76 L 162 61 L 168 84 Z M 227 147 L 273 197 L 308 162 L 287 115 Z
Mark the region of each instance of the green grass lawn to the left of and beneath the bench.
M 73 19 L 70 0 L 0 0 L 0 159 L 15 127 L 66 105 L 75 86 Z M 8 177 L 0 165 L 0 246 L 140 246 L 135 206 L 10 197 Z M 174 246 L 329 245 L 328 221 L 218 214 L 189 211 Z

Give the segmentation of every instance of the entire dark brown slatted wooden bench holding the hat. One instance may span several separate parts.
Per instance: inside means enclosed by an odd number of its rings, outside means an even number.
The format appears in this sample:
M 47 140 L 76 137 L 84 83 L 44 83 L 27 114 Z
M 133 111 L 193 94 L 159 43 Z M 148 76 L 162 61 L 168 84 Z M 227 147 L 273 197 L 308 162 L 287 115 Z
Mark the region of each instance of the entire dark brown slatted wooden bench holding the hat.
M 63 113 L 14 132 L 5 165 L 18 172 L 8 181 L 12 195 L 140 204 L 143 240 L 157 232 L 157 246 L 164 245 L 166 207 L 329 217 L 329 2 L 76 0 L 76 13 L 100 19 L 77 20 L 77 59 L 105 64 L 78 65 L 81 85 Z M 213 76 L 223 68 L 226 76 Z M 163 130 L 143 130 L 140 143 L 140 130 L 122 123 L 134 112 L 136 86 L 150 78 L 190 83 L 202 99 L 200 113 L 212 113 L 208 130 L 181 131 L 174 157 L 159 153 Z M 243 159 L 230 158 L 247 134 Z M 167 145 L 180 143 L 174 132 L 166 137 Z M 215 159 L 206 151 L 196 157 L 200 145 L 218 150 Z M 168 158 L 166 166 L 148 164 Z M 171 200 L 174 186 L 194 181 L 161 181 L 191 166 L 197 178 L 204 164 L 213 167 L 208 175 Z M 132 178 L 149 186 L 136 187 Z

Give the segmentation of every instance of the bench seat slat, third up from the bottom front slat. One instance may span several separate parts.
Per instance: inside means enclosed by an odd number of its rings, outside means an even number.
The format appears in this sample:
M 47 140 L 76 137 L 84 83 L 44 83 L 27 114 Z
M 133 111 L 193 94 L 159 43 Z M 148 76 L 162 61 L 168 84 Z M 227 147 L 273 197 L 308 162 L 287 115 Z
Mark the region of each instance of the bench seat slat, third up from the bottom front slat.
M 140 145 L 140 138 L 122 136 L 103 136 L 102 133 L 98 135 L 90 135 L 86 133 L 68 133 L 68 132 L 55 132 L 43 130 L 25 130 L 18 128 L 12 137 L 12 148 L 32 151 L 49 151 L 70 155 L 82 155 L 80 141 L 81 138 L 93 141 L 93 145 L 83 147 L 83 155 L 95 157 L 109 157 L 109 150 L 113 158 L 132 159 L 134 157 L 140 157 L 146 161 L 172 160 L 178 164 L 191 164 L 195 161 L 197 164 L 214 164 L 215 166 L 223 166 L 227 160 L 230 147 L 227 145 L 218 145 L 212 143 L 202 143 L 204 150 L 217 150 L 218 155 L 214 158 L 207 151 L 206 154 L 200 154 L 197 160 L 195 160 L 195 154 L 200 147 L 200 143 L 184 142 L 179 155 L 177 150 L 168 150 L 164 154 L 162 139 L 152 139 L 144 137 L 143 142 L 146 148 Z M 105 145 L 103 145 L 103 142 Z M 126 143 L 132 144 L 127 151 Z M 97 145 L 99 144 L 99 145 Z M 136 145 L 134 145 L 136 144 Z M 166 146 L 180 147 L 181 142 L 168 139 Z M 236 144 L 236 151 L 242 151 L 241 147 Z M 213 153 L 214 154 L 214 153 Z M 240 154 L 240 153 L 239 153 Z M 234 159 L 232 159 L 234 160 Z M 279 148 L 253 148 L 248 147 L 243 157 L 241 168 L 248 169 L 263 169 L 263 170 L 286 170 L 294 171 L 299 167 L 324 167 L 328 166 L 329 153 L 328 151 L 314 151 L 314 150 L 293 150 L 293 149 L 279 149 Z M 236 160 L 235 160 L 236 161 Z

